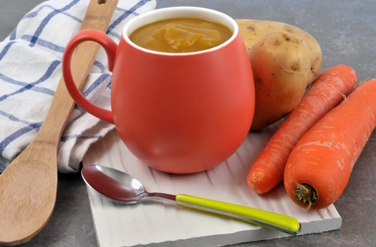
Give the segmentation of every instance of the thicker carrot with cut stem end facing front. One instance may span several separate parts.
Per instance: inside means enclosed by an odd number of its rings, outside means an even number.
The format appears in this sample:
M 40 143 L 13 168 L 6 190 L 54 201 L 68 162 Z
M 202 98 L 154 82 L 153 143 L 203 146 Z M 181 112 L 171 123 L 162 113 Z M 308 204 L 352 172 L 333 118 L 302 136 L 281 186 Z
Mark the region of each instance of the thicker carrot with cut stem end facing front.
M 297 143 L 288 159 L 284 184 L 301 207 L 334 203 L 376 126 L 376 79 L 362 83 L 320 119 Z

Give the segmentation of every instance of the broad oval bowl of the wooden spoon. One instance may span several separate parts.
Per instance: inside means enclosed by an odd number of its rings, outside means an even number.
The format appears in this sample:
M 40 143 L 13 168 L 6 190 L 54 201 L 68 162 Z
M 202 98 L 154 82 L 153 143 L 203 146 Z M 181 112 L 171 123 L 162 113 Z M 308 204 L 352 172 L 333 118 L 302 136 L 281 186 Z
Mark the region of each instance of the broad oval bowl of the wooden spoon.
M 30 143 L 0 175 L 0 245 L 23 244 L 43 229 L 57 183 L 56 146 Z

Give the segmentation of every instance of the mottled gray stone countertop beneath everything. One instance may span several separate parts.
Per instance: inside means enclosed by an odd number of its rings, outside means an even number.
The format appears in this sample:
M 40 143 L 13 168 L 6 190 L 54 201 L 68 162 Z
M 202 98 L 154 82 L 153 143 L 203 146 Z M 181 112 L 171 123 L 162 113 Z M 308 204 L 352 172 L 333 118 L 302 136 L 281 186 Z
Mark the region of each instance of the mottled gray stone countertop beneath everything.
M 0 39 L 8 36 L 26 12 L 42 0 L 2 0 Z M 312 34 L 323 52 L 323 70 L 352 66 L 359 81 L 376 78 L 376 2 L 374 0 L 157 0 L 157 8 L 202 6 L 233 18 L 274 20 Z M 340 230 L 285 239 L 238 244 L 237 247 L 376 246 L 376 135 L 368 141 L 350 182 L 335 207 L 343 218 Z M 52 218 L 23 247 L 96 247 L 88 195 L 79 174 L 61 175 Z

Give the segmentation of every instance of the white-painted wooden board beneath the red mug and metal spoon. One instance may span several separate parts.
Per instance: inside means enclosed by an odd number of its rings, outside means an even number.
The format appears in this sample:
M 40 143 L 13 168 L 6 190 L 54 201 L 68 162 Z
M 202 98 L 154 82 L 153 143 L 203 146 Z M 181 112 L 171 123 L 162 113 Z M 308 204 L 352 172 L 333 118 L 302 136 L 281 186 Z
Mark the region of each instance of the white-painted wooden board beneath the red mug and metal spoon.
M 283 184 L 267 195 L 257 195 L 247 186 L 247 172 L 276 127 L 250 133 L 226 162 L 199 174 L 170 175 L 150 169 L 126 148 L 116 130 L 91 146 L 83 164 L 125 171 L 138 178 L 149 192 L 181 193 L 289 215 L 302 224 L 300 234 L 339 229 L 341 217 L 333 205 L 306 212 L 290 200 Z M 214 247 L 290 236 L 172 203 L 124 205 L 102 198 L 89 188 L 88 193 L 100 247 Z

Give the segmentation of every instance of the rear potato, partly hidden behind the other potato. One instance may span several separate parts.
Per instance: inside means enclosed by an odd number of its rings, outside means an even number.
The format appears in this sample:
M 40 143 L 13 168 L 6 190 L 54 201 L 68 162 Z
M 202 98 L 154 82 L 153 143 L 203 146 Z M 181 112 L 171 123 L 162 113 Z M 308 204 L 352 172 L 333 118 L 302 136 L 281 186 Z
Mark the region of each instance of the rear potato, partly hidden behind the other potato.
M 317 78 L 321 72 L 322 54 L 320 45 L 308 32 L 282 22 L 261 20 L 235 20 L 238 23 L 240 33 L 248 50 L 264 35 L 273 30 L 285 30 L 298 35 L 306 43 L 311 56 L 311 73 L 308 77 L 308 85 Z M 307 85 L 307 86 L 308 86 Z

